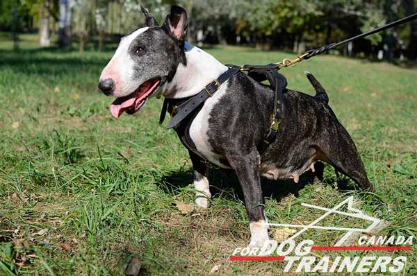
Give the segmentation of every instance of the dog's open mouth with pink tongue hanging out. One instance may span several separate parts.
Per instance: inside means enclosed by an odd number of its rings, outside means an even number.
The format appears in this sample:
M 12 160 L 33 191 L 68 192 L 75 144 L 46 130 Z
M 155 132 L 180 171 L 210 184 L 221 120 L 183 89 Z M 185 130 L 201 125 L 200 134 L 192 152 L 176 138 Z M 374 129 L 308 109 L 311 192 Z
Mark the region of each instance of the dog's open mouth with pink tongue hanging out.
M 149 96 L 156 91 L 160 86 L 161 80 L 154 78 L 152 80 L 147 80 L 145 83 L 142 83 L 138 89 L 135 90 L 132 94 L 129 94 L 124 97 L 116 98 L 116 100 L 111 104 L 110 110 L 111 114 L 119 118 L 120 115 L 126 111 L 128 114 L 133 114 L 140 110 L 141 107 L 145 105 Z

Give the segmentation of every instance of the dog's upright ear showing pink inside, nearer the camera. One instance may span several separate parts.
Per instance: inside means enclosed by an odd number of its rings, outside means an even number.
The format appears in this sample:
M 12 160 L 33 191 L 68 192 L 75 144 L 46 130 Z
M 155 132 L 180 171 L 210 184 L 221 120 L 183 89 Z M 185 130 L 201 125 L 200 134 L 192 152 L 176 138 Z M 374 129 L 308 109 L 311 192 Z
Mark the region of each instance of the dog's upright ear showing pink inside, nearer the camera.
M 167 15 L 162 28 L 168 35 L 183 43 L 186 38 L 187 27 L 188 18 L 186 10 L 180 6 L 172 6 L 171 13 Z

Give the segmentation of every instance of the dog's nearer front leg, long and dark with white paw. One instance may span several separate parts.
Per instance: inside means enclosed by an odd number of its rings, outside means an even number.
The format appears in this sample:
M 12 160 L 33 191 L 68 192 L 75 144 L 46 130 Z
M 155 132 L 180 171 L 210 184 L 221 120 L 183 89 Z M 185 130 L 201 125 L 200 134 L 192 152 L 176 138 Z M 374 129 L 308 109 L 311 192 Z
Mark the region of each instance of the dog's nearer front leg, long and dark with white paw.
M 245 207 L 250 221 L 250 247 L 260 248 L 268 241 L 268 225 L 263 210 L 263 195 L 259 165 L 261 157 L 257 151 L 247 155 L 228 156 L 229 164 L 236 171 L 245 196 Z

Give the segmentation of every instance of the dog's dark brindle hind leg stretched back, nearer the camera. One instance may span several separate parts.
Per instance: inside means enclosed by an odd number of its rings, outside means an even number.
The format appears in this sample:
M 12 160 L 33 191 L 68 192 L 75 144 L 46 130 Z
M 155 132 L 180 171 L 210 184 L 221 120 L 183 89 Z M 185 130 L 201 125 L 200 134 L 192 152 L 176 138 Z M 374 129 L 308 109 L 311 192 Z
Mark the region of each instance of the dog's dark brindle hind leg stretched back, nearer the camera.
M 343 127 L 338 128 L 338 132 L 338 135 L 334 133 L 327 137 L 326 143 L 320 147 L 320 151 L 325 155 L 322 160 L 351 178 L 361 189 L 372 191 L 373 185 L 368 180 L 352 138 Z

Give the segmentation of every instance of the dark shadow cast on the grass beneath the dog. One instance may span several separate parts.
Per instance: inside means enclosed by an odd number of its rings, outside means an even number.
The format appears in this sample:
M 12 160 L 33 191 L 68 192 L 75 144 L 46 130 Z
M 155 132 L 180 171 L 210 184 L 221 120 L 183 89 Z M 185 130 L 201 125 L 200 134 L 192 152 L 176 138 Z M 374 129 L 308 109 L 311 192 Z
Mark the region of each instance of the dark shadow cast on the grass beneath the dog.
M 289 194 L 293 194 L 297 197 L 306 185 L 312 184 L 318 180 L 323 180 L 323 170 L 324 164 L 317 162 L 315 164 L 316 173 L 307 171 L 300 176 L 300 181 L 298 183 L 293 182 L 293 180 L 268 180 L 266 178 L 261 178 L 263 196 L 273 198 L 277 201 L 285 198 Z M 240 188 L 238 178 L 234 171 L 224 169 L 212 170 L 208 176 L 208 181 L 210 182 L 211 194 L 214 197 L 222 195 L 229 200 L 238 199 L 245 201 L 243 191 Z M 165 193 L 172 194 L 179 193 L 181 188 L 187 187 L 190 183 L 193 183 L 192 169 L 187 171 L 170 171 L 166 175 L 163 175 L 159 180 L 156 180 L 156 184 L 160 189 Z M 325 180 L 322 181 L 322 183 L 334 186 L 334 181 L 332 180 Z M 346 186 L 342 185 L 338 187 L 345 188 Z M 229 189 L 232 189 L 233 193 L 224 193 L 224 191 Z

